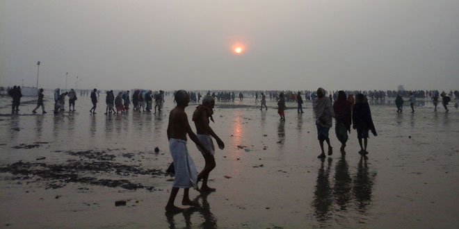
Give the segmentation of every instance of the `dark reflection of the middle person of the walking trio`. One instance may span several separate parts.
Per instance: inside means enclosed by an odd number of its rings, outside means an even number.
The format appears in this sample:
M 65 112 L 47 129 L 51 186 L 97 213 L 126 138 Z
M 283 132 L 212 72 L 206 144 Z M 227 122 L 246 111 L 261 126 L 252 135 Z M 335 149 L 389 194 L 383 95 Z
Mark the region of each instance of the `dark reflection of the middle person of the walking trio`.
M 351 200 L 351 182 L 348 162 L 346 162 L 344 155 L 341 155 L 335 166 L 335 185 L 333 186 L 335 203 L 339 205 L 340 210 L 346 210 L 346 205 Z

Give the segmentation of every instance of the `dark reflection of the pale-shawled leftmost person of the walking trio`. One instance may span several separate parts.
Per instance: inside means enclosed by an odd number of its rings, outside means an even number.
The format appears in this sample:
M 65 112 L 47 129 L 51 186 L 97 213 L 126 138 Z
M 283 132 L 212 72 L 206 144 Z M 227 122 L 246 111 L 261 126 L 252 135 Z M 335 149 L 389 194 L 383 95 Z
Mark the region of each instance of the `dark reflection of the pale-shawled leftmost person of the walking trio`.
M 322 159 L 321 161 L 321 167 L 317 173 L 317 184 L 314 191 L 312 205 L 314 207 L 314 215 L 317 220 L 325 221 L 328 219 L 328 212 L 332 206 L 332 192 L 330 190 L 330 181 L 328 180 L 332 159 L 328 158 L 327 169 L 323 166 L 325 159 Z

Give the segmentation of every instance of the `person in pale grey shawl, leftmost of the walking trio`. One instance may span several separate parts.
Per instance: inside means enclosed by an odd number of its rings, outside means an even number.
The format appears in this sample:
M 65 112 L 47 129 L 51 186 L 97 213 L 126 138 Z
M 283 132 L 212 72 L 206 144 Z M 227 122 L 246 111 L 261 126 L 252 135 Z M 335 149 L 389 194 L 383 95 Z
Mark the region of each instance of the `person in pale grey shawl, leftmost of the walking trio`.
M 322 153 L 317 158 L 325 158 L 325 152 L 323 151 L 323 141 L 328 144 L 328 155 L 333 154 L 332 146 L 330 145 L 330 139 L 328 138 L 328 130 L 332 127 L 332 117 L 335 117 L 335 113 L 332 109 L 332 103 L 330 99 L 325 96 L 325 90 L 319 87 L 317 90 L 317 98 L 314 100 L 313 110 L 314 117 L 316 119 L 317 127 L 317 139 L 321 144 Z

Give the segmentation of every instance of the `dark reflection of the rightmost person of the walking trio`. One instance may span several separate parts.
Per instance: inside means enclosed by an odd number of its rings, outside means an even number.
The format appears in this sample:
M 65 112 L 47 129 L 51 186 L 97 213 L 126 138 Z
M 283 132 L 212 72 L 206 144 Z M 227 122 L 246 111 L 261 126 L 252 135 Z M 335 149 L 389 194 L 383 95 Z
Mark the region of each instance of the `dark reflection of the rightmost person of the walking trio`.
M 373 189 L 376 173 L 369 173 L 365 156 L 360 157 L 357 173 L 353 178 L 353 195 L 357 201 L 357 210 L 365 212 L 367 205 L 371 203 L 371 192 Z

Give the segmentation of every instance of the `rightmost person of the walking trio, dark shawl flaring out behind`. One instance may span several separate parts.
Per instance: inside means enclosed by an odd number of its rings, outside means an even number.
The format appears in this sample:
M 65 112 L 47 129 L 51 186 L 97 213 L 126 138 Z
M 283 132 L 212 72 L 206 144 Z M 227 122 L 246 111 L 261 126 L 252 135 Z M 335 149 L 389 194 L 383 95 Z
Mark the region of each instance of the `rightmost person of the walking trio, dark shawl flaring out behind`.
M 368 144 L 368 131 L 371 130 L 374 136 L 376 134 L 375 126 L 373 125 L 373 119 L 371 119 L 370 105 L 368 105 L 367 98 L 363 94 L 357 94 L 355 97 L 355 105 L 353 108 L 353 128 L 357 129 L 357 139 L 360 144 L 360 154 L 367 155 L 367 144 Z M 364 139 L 364 146 L 362 146 L 362 138 Z

